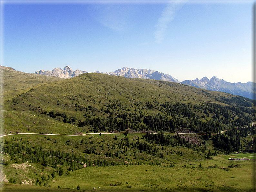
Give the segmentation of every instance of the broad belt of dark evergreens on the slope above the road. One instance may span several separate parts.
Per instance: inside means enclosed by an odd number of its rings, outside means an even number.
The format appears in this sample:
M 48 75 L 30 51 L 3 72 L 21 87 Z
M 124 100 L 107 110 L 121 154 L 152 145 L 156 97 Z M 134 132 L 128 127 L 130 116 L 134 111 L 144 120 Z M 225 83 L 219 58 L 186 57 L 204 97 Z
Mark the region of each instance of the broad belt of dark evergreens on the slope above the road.
M 157 106 L 162 106 L 161 109 Z M 94 128 L 95 132 L 99 131 L 124 131 L 127 129 L 131 130 L 153 130 L 153 131 L 173 131 L 177 127 L 187 128 L 192 131 L 204 131 L 216 133 L 219 130 L 223 129 L 223 124 L 233 126 L 244 126 L 249 125 L 248 122 L 251 122 L 253 119 L 248 115 L 245 115 L 248 112 L 246 110 L 241 110 L 238 107 L 234 106 L 222 106 L 220 104 L 205 103 L 205 104 L 182 104 L 166 102 L 158 103 L 155 101 L 151 103 L 150 106 L 155 107 L 161 111 L 158 114 L 146 115 L 142 111 L 138 112 L 118 112 L 117 115 L 113 113 L 108 113 L 107 116 L 90 116 L 84 115 L 85 120 L 77 120 L 76 117 L 68 117 L 66 113 L 55 112 L 54 110 L 50 111 L 48 115 L 55 118 L 60 116 L 63 118 L 64 122 L 68 123 L 77 123 L 79 127 L 91 126 Z M 111 106 L 108 106 L 109 108 Z M 197 113 L 193 112 L 191 108 L 196 111 L 203 111 L 203 118 L 206 119 L 206 116 L 212 116 L 212 120 L 202 121 Z M 245 108 L 245 107 L 244 107 Z M 89 108 L 90 109 L 90 108 Z M 88 110 L 89 110 L 88 109 Z M 94 110 L 94 109 L 92 109 Z M 234 115 L 231 115 L 231 111 Z M 253 111 L 250 110 L 250 113 Z M 86 113 L 87 114 L 87 113 Z

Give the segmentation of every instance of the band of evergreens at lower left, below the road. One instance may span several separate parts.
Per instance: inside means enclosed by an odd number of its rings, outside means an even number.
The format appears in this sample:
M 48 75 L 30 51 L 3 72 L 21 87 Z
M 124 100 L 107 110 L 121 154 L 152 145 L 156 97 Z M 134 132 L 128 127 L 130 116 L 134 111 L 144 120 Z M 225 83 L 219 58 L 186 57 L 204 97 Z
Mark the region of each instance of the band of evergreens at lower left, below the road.
M 22 143 L 5 141 L 5 145 L 1 145 L 2 152 L 10 155 L 11 160 L 15 159 L 16 163 L 19 161 L 18 159 L 21 159 L 22 162 L 42 163 L 53 168 L 57 168 L 58 165 L 65 165 L 69 166 L 69 171 L 81 169 L 84 165 L 89 167 L 93 165 L 100 167 L 123 165 L 123 162 L 119 161 L 107 161 L 106 159 L 95 159 L 93 161 L 74 153 L 60 150 L 45 150 L 42 147 L 32 148 L 25 144 L 26 141 Z M 58 169 L 58 174 L 64 174 L 63 169 Z

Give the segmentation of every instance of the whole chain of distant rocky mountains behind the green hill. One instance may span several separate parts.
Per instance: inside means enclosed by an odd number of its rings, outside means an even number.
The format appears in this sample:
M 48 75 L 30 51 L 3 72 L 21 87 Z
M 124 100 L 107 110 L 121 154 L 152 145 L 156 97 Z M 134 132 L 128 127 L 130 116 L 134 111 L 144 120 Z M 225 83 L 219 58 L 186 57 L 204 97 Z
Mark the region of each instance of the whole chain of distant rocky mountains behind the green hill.
M 114 72 L 100 72 L 95 71 L 96 73 L 103 73 L 108 75 L 122 76 L 126 78 L 142 78 L 142 79 L 154 79 L 154 80 L 163 80 L 169 82 L 182 83 L 186 85 L 190 85 L 193 87 L 198 87 L 210 91 L 221 91 L 227 92 L 234 95 L 240 95 L 243 97 L 247 97 L 253 99 L 253 91 L 252 85 L 253 82 L 247 83 L 231 83 L 227 82 L 223 79 L 218 79 L 213 76 L 210 80 L 207 77 L 203 77 L 201 80 L 198 78 L 194 80 L 185 80 L 180 82 L 178 79 L 175 79 L 169 74 L 160 73 L 154 70 L 148 69 L 133 69 L 128 67 L 123 67 L 122 69 L 118 69 Z M 82 73 L 88 73 L 87 71 L 75 70 L 73 71 L 69 66 L 64 67 L 63 70 L 61 68 L 54 68 L 52 71 L 36 71 L 35 74 L 47 75 L 47 76 L 56 76 L 61 78 L 72 78 L 76 77 Z

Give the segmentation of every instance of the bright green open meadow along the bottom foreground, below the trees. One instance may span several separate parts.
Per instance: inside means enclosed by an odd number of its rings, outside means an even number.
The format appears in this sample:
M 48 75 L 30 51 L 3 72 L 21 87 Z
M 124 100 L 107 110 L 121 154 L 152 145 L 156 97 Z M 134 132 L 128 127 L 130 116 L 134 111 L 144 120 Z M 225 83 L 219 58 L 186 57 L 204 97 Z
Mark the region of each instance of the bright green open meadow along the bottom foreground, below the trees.
M 239 166 L 227 167 L 236 162 L 219 155 L 212 160 L 190 162 L 173 168 L 141 165 L 88 167 L 72 171 L 47 181 L 46 186 L 28 186 L 31 191 L 251 191 L 253 161 L 240 161 Z M 218 168 L 198 168 L 217 165 Z M 234 165 L 235 165 L 234 164 Z M 182 167 L 183 166 L 183 167 Z M 196 167 L 196 168 L 192 168 Z M 76 187 L 80 186 L 80 190 Z M 60 189 L 58 188 L 60 187 Z M 3 191 L 22 191 L 27 185 L 4 184 Z M 96 189 L 93 189 L 93 188 Z M 28 190 L 27 190 L 28 191 Z

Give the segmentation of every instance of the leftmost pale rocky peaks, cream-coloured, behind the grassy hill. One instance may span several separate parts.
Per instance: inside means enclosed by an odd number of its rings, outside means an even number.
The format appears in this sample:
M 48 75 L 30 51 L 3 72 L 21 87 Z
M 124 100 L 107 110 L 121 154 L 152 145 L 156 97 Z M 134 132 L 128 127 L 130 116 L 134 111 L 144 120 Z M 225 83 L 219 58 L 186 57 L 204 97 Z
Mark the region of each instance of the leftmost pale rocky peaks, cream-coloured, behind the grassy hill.
M 87 71 L 81 71 L 79 69 L 73 71 L 71 69 L 71 67 L 66 66 L 64 67 L 63 70 L 61 70 L 61 68 L 54 68 L 52 71 L 44 71 L 44 70 L 40 70 L 40 71 L 36 71 L 35 74 L 40 74 L 40 75 L 47 75 L 47 76 L 56 76 L 56 77 L 61 77 L 61 78 L 65 78 L 65 79 L 69 79 L 72 77 L 76 77 L 78 75 L 81 75 L 82 73 L 88 73 Z

